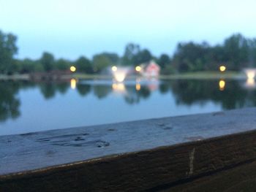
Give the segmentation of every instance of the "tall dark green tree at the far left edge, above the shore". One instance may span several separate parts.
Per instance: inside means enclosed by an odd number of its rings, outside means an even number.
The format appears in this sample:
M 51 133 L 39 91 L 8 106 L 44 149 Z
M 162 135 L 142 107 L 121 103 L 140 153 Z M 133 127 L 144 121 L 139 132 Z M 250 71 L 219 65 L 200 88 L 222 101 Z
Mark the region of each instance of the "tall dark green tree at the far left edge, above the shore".
M 13 34 L 4 34 L 0 31 L 0 73 L 12 73 L 14 67 L 14 55 L 18 52 L 15 45 L 17 37 Z

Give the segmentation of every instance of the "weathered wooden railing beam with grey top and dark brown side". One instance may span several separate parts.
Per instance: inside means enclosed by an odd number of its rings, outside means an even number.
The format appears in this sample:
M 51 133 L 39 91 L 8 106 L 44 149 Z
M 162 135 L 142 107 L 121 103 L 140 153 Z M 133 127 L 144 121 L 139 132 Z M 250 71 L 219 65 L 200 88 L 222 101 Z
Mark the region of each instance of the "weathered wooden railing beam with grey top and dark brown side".
M 0 191 L 157 191 L 256 159 L 256 108 L 0 137 Z

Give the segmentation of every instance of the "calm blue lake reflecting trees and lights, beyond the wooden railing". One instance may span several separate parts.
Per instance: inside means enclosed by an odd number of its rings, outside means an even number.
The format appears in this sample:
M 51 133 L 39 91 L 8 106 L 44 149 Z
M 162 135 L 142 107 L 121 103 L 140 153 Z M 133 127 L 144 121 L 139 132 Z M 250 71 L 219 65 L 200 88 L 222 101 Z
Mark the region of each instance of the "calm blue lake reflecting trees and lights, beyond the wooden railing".
M 0 81 L 0 135 L 256 106 L 236 80 Z

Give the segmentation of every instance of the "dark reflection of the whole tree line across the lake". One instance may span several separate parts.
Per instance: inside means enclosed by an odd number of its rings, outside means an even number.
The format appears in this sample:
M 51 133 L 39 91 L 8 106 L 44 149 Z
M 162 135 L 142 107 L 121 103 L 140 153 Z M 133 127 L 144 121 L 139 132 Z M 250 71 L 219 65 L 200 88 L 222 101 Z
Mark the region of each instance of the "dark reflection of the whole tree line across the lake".
M 244 85 L 246 84 L 246 86 Z M 140 101 L 149 99 L 152 95 L 170 95 L 177 106 L 203 106 L 208 101 L 220 105 L 223 110 L 256 106 L 255 80 L 130 80 L 127 82 L 112 81 L 77 81 L 67 82 L 0 82 L 0 121 L 20 117 L 19 92 L 38 90 L 48 101 L 58 95 L 69 96 L 69 90 L 74 90 L 81 98 L 104 100 L 107 96 L 118 94 L 126 104 L 137 105 Z M 74 93 L 74 91 L 72 91 Z M 155 101 L 157 104 L 157 100 Z M 162 109 L 170 110 L 170 109 Z

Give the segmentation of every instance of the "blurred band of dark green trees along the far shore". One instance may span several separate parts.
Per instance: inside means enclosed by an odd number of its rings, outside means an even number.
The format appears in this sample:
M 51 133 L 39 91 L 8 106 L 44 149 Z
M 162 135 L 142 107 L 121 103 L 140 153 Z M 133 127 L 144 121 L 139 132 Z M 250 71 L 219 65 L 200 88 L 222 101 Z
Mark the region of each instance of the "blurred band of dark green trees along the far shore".
M 52 53 L 42 53 L 41 58 L 17 59 L 17 37 L 0 31 L 0 74 L 68 71 L 75 66 L 77 72 L 98 74 L 108 66 L 137 66 L 154 60 L 161 67 L 162 74 L 178 72 L 217 71 L 224 64 L 227 69 L 239 71 L 244 67 L 255 67 L 256 39 L 249 39 L 241 34 L 233 34 L 222 44 L 211 46 L 207 42 L 178 43 L 173 55 L 154 56 L 148 49 L 129 43 L 124 54 L 100 53 L 92 59 L 80 56 L 75 61 L 64 58 L 56 59 Z

